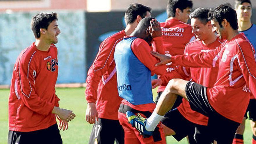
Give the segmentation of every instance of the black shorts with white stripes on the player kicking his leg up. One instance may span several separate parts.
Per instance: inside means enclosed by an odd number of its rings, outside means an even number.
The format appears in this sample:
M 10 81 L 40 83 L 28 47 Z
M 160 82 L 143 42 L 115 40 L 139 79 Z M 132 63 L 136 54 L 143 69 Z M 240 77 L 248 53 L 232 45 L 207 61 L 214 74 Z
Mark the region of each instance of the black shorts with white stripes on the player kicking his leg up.
M 186 96 L 192 110 L 209 117 L 207 127 L 209 127 L 210 130 L 210 137 L 208 139 L 211 141 L 216 140 L 218 144 L 232 143 L 234 134 L 240 124 L 225 118 L 214 110 L 208 102 L 206 87 L 189 81 L 186 85 Z M 199 133 L 202 133 L 200 132 L 200 128 L 198 131 Z M 202 143 L 206 144 L 206 142 Z

